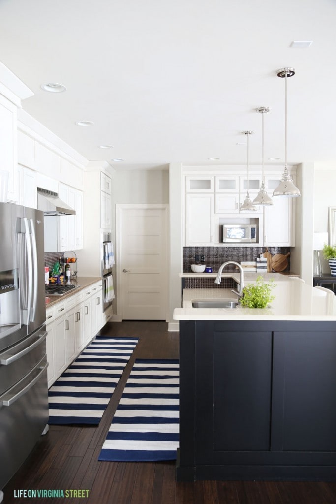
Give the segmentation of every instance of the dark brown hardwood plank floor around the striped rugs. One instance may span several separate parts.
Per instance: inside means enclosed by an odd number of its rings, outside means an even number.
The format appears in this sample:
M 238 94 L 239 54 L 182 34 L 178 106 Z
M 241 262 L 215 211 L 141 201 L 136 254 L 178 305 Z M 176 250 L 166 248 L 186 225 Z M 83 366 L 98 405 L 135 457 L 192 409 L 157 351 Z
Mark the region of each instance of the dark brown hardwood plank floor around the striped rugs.
M 139 336 L 99 426 L 51 425 L 4 488 L 4 504 L 335 504 L 336 483 L 198 481 L 176 483 L 175 462 L 98 462 L 127 376 L 138 358 L 177 358 L 178 333 L 164 322 L 107 324 L 100 334 Z M 1 468 L 0 468 L 1 470 Z M 17 498 L 19 489 L 88 489 L 82 498 Z

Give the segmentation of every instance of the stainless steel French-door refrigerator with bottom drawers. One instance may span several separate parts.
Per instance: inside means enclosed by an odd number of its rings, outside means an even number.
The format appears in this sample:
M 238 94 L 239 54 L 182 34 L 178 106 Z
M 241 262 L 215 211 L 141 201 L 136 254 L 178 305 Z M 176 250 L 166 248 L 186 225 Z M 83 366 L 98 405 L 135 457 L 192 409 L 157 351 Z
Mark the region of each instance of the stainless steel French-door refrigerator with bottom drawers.
M 47 430 L 43 242 L 43 212 L 0 203 L 0 490 Z

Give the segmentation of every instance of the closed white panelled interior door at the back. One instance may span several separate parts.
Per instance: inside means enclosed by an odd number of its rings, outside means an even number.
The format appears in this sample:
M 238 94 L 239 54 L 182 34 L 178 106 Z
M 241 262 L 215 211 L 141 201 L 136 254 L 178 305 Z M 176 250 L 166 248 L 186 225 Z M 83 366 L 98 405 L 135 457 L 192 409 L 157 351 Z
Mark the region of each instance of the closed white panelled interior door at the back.
M 119 208 L 119 293 L 124 320 L 166 320 L 167 206 Z

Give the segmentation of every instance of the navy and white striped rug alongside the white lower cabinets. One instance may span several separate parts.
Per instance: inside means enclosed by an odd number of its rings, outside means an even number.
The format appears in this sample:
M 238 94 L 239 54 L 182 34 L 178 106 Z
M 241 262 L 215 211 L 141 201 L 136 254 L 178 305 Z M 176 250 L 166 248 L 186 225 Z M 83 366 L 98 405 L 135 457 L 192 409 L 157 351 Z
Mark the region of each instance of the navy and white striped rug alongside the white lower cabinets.
M 96 336 L 49 389 L 48 423 L 98 425 L 138 340 Z

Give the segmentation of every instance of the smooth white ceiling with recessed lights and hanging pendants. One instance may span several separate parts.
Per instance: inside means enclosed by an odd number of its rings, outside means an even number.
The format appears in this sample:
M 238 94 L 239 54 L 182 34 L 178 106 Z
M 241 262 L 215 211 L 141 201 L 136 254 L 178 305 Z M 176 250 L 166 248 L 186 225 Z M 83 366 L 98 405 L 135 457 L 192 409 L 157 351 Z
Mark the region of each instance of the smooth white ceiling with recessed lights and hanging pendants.
M 117 169 L 245 164 L 244 130 L 260 164 L 260 106 L 271 109 L 265 164 L 284 159 L 277 70 L 293 67 L 288 161 L 334 162 L 335 26 L 335 0 L 0 0 L 0 60 L 35 93 L 25 111 Z M 313 44 L 291 48 L 293 40 Z M 67 90 L 47 93 L 45 82 Z M 80 128 L 80 119 L 95 125 Z

